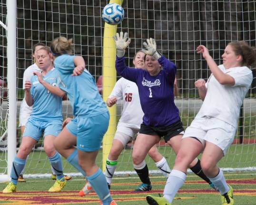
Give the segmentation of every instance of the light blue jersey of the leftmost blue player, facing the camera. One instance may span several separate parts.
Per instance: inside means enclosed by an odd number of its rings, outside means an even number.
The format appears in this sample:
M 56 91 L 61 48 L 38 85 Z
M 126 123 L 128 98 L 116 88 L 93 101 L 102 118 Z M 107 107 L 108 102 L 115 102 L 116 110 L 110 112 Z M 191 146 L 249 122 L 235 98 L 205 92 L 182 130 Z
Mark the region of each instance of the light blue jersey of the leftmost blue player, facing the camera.
M 57 86 L 58 82 L 57 69 L 51 69 L 45 76 L 44 81 Z M 42 84 L 39 83 L 37 75 L 33 75 L 30 79 L 30 93 L 34 100 L 33 111 L 30 118 L 38 121 L 62 120 L 62 99 L 61 97 L 50 93 Z

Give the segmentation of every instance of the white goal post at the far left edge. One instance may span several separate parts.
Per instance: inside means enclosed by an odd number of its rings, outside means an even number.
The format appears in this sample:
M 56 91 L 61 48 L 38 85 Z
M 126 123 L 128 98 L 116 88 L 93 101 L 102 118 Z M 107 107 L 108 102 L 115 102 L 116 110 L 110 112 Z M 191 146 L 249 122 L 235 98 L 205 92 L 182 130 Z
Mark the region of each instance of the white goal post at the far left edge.
M 9 15 L 8 15 L 9 14 Z M 16 155 L 16 0 L 7 1 L 7 25 L 1 21 L 7 36 L 7 82 L 8 82 L 8 122 L 7 122 L 7 173 L 0 175 L 0 181 L 9 180 L 12 161 Z M 5 136 L 1 136 L 1 139 Z

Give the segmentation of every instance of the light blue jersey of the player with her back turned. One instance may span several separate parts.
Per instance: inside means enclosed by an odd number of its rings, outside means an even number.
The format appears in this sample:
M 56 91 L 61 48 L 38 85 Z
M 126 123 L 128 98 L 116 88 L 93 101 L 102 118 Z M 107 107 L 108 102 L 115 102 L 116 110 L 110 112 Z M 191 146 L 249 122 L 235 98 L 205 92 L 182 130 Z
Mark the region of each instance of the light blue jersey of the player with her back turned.
M 61 80 L 59 87 L 68 94 L 73 114 L 88 118 L 108 112 L 106 103 L 98 93 L 95 80 L 88 70 L 85 69 L 81 75 L 72 76 L 74 57 L 64 54 L 54 60 L 54 67 L 58 69 Z

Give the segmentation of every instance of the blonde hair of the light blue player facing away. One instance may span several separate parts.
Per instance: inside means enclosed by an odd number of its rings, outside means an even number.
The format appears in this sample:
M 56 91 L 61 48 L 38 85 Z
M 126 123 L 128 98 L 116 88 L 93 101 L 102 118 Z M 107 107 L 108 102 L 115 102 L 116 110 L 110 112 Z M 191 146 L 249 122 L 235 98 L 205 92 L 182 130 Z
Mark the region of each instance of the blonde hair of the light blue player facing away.
M 50 51 L 54 56 L 59 56 L 62 54 L 72 54 L 73 53 L 73 39 L 66 37 L 57 37 L 50 44 Z

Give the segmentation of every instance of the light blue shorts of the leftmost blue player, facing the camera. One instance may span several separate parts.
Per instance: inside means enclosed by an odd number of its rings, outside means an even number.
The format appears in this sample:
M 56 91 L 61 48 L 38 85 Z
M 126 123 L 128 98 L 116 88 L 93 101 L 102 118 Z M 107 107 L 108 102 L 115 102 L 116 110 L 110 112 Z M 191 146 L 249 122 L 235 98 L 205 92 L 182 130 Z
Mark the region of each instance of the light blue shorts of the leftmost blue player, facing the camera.
M 31 137 L 34 140 L 38 141 L 42 134 L 44 134 L 44 136 L 53 135 L 57 137 L 61 129 L 61 120 L 38 121 L 30 118 L 29 121 L 26 123 L 23 137 Z

